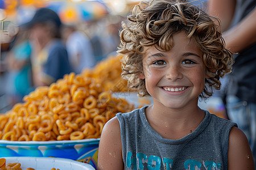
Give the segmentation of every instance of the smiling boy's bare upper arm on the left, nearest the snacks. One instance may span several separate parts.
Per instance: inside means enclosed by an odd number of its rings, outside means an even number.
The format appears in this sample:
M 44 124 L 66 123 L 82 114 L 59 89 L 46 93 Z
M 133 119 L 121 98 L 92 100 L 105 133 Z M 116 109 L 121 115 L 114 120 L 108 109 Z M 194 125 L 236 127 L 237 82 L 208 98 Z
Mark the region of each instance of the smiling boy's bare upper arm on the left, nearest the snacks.
M 123 169 L 122 142 L 117 117 L 106 122 L 98 150 L 98 170 Z

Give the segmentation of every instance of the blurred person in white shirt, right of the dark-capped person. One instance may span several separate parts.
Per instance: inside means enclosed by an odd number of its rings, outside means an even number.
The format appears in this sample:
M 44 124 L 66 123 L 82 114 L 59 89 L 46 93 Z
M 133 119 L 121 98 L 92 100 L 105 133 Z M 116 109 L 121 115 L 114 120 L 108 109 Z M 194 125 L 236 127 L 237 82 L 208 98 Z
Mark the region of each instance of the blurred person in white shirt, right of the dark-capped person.
M 61 35 L 68 52 L 69 63 L 76 74 L 81 73 L 85 68 L 92 68 L 96 65 L 90 39 L 84 32 L 79 31 L 76 25 L 63 25 Z

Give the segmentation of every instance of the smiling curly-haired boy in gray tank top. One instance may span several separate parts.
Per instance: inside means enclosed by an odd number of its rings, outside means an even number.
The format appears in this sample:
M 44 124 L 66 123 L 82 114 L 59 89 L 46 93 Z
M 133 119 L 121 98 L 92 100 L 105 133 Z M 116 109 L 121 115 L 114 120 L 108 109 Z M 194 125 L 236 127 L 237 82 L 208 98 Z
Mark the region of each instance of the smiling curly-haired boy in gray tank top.
M 189 3 L 141 2 L 123 24 L 122 76 L 154 103 L 106 123 L 98 169 L 254 169 L 236 124 L 197 106 L 233 59 L 210 16 Z

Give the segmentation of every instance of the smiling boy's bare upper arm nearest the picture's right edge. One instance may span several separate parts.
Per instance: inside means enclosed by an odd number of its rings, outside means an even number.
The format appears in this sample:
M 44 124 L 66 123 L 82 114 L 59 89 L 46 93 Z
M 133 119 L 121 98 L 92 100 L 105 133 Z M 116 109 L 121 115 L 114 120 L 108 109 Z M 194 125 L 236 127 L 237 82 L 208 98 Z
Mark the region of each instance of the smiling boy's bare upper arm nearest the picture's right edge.
M 229 134 L 228 169 L 254 170 L 253 154 L 242 130 L 233 127 Z

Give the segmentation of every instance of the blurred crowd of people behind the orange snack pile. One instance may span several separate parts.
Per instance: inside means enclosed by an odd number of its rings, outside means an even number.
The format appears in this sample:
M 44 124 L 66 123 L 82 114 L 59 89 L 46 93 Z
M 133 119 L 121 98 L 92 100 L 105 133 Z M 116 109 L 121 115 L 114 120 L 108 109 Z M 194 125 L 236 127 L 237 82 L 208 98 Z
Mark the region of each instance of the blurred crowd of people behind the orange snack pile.
M 122 16 L 106 15 L 63 23 L 55 11 L 39 8 L 29 22 L 18 27 L 9 23 L 8 31 L 15 31 L 2 44 L 0 111 L 22 102 L 38 86 L 48 86 L 71 72 L 79 74 L 115 55 L 121 20 Z

